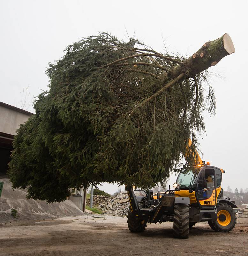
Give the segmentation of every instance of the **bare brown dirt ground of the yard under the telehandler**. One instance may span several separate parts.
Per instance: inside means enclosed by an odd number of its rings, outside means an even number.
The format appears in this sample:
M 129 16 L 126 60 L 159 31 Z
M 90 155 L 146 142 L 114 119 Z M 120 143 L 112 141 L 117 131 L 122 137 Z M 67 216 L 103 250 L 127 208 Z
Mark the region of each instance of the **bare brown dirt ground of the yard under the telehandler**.
M 145 232 L 136 234 L 127 229 L 126 218 L 104 218 L 84 215 L 2 223 L 0 255 L 248 255 L 248 219 L 239 219 L 227 234 L 198 223 L 190 238 L 182 240 L 172 237 L 171 222 L 148 224 Z

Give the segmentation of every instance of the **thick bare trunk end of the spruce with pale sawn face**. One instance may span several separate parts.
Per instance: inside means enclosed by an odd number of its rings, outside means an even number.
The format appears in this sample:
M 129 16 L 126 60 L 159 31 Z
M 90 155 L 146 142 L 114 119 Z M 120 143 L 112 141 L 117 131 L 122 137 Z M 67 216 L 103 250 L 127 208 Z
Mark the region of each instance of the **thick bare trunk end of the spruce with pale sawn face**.
M 216 65 L 222 58 L 235 52 L 231 37 L 225 33 L 220 38 L 209 41 L 190 58 L 183 62 L 183 65 L 177 65 L 169 70 L 168 75 L 177 77 L 181 73 L 185 76 L 194 77 L 207 68 Z

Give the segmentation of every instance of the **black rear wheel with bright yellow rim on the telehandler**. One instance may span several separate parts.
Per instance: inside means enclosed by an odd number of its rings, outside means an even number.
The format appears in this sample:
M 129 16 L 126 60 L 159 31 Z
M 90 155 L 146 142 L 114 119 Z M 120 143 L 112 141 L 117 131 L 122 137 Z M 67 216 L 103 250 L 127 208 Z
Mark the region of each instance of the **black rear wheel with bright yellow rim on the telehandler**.
M 216 208 L 218 219 L 214 222 L 208 221 L 209 226 L 216 232 L 230 232 L 237 223 L 237 217 L 233 211 L 233 208 L 229 204 L 225 203 L 217 204 Z M 220 211 L 226 213 L 227 215 L 218 214 Z

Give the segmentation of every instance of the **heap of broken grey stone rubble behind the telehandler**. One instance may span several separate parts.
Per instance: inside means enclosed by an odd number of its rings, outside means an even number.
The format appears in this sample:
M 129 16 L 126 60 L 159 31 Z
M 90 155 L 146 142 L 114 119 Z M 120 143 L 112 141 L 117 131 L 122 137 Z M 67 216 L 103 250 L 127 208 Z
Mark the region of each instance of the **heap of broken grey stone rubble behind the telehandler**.
M 86 201 L 90 205 L 90 199 Z M 126 216 L 129 206 L 127 193 L 124 191 L 119 192 L 115 196 L 93 196 L 93 207 L 99 208 L 105 214 Z

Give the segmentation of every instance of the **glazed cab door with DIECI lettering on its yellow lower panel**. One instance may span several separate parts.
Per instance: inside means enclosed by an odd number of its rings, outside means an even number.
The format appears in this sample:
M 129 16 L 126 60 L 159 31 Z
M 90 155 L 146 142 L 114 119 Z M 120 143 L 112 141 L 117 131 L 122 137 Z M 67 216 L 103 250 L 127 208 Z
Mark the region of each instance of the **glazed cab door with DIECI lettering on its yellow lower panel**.
M 196 183 L 196 200 L 200 209 L 214 210 L 216 205 L 215 168 L 211 166 L 202 168 Z

